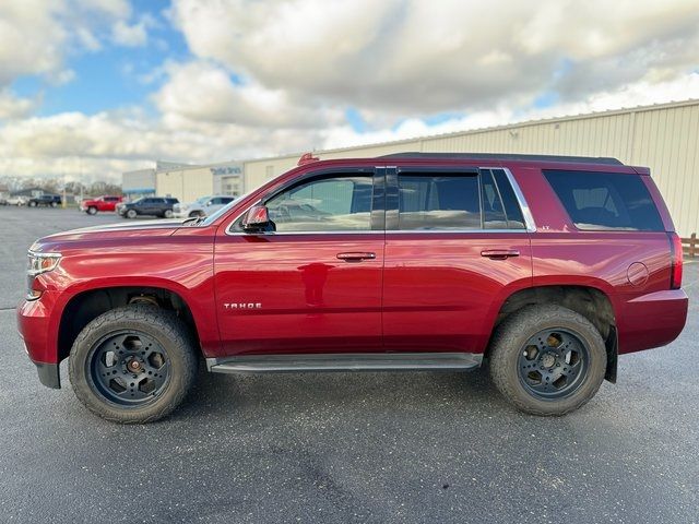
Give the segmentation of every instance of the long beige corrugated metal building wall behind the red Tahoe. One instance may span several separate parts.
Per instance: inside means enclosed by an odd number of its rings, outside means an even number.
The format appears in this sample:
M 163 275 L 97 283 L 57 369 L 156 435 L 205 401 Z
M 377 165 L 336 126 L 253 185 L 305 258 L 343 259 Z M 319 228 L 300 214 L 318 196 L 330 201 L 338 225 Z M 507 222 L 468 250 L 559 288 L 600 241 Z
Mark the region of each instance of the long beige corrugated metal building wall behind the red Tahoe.
M 613 156 L 648 166 L 683 236 L 699 231 L 699 100 L 524 122 L 440 136 L 318 152 L 321 158 L 402 151 Z M 297 155 L 245 163 L 246 189 L 296 165 Z

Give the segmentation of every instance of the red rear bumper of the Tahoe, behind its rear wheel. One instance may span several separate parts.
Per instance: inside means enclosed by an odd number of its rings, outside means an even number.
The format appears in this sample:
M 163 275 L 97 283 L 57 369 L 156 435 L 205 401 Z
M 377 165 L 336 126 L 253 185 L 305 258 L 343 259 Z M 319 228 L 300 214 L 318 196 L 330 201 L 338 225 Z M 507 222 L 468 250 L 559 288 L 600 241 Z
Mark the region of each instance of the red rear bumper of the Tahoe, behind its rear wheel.
M 619 325 L 619 354 L 661 347 L 685 327 L 689 299 L 683 289 L 656 291 L 629 300 Z

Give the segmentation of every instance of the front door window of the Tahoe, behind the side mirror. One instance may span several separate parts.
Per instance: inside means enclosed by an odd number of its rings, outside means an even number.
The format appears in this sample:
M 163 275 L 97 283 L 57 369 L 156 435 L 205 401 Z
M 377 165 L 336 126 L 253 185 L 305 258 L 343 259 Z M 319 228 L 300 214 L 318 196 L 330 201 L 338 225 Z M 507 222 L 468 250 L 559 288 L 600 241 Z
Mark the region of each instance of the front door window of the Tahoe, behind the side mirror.
M 305 182 L 268 200 L 277 231 L 371 229 L 371 176 L 337 176 Z

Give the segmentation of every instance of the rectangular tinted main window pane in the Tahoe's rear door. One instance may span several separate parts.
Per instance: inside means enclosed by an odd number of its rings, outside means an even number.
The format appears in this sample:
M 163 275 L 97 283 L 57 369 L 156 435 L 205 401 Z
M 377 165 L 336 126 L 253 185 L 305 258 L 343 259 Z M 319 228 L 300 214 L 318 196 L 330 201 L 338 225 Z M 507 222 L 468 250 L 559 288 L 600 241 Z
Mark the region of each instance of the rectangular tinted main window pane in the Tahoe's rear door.
M 399 175 L 399 229 L 481 229 L 475 175 Z

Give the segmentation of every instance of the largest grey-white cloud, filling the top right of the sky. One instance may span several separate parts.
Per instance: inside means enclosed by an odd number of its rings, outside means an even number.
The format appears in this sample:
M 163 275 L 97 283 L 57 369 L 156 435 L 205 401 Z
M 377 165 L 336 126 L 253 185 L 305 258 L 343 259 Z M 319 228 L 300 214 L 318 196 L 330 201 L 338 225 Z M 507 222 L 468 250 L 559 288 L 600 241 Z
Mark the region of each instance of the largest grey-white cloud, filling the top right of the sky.
M 266 88 L 392 116 L 584 95 L 698 61 L 696 0 L 175 0 L 171 17 L 197 56 Z

